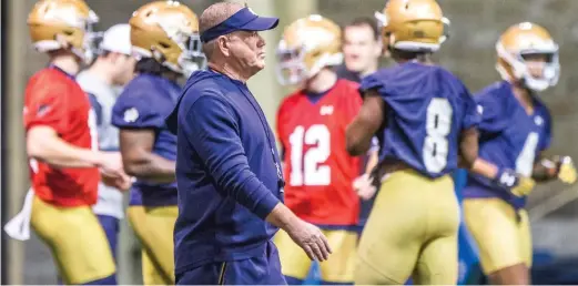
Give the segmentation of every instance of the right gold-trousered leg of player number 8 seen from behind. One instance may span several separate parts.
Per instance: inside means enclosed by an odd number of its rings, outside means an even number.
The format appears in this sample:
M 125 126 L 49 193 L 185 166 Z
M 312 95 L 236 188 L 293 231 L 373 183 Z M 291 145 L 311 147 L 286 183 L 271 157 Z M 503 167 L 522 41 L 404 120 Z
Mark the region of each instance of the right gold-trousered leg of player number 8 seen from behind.
M 429 202 L 427 232 L 413 282 L 417 285 L 456 285 L 458 278 L 459 203 L 452 177 L 423 181 L 424 201 Z

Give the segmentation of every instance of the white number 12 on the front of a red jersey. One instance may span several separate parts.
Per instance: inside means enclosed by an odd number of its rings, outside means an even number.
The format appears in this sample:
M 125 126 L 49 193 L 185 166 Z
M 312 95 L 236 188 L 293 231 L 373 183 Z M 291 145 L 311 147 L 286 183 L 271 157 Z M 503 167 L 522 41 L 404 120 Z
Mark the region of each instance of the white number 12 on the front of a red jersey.
M 331 133 L 323 124 L 307 130 L 297 126 L 290 135 L 292 186 L 321 186 L 331 184 L 331 167 L 321 165 L 331 154 Z M 317 146 L 303 153 L 304 144 Z

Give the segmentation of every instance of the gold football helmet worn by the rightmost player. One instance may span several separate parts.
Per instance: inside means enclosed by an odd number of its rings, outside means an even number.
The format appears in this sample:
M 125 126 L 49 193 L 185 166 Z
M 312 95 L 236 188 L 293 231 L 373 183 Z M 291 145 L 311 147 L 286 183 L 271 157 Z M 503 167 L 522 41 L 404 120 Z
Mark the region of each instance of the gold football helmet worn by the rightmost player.
M 542 27 L 523 22 L 508 28 L 496 43 L 496 69 L 504 80 L 524 81 L 534 91 L 542 91 L 558 83 L 558 44 Z M 533 61 L 533 55 L 544 57 L 546 61 Z

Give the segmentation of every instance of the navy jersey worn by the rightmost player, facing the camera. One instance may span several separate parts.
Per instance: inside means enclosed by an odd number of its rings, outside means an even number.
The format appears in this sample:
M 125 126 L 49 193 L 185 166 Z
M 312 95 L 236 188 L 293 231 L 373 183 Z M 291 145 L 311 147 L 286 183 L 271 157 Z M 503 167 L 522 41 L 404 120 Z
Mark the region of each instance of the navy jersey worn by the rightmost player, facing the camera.
M 481 112 L 478 127 L 479 157 L 499 168 L 511 168 L 521 175 L 531 176 L 535 159 L 550 145 L 551 121 L 546 105 L 534 96 L 534 113 L 529 115 L 507 81 L 489 85 L 474 99 Z M 514 200 L 508 190 L 473 174 L 469 175 L 464 195 Z M 524 201 L 515 201 L 518 206 L 524 204 Z

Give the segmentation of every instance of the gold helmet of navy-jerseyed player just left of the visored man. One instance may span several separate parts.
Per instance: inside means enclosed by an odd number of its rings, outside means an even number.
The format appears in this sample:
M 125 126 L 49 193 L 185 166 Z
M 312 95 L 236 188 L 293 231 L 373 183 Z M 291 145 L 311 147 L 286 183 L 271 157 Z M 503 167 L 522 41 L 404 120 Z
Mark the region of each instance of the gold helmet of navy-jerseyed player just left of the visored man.
M 178 1 L 155 1 L 136 10 L 131 20 L 134 55 L 154 58 L 170 70 L 189 75 L 203 68 L 199 19 Z

